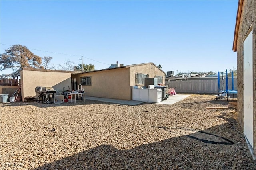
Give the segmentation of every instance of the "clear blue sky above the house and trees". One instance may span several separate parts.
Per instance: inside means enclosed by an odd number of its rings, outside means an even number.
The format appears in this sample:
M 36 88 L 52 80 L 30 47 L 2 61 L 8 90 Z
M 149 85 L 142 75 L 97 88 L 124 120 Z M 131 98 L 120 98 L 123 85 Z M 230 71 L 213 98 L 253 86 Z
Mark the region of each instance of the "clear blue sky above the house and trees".
M 21 44 L 40 57 L 53 57 L 50 64 L 80 64 L 84 56 L 93 59 L 84 58 L 84 63 L 97 70 L 116 61 L 153 62 L 164 72 L 236 68 L 237 0 L 0 3 L 1 43 L 7 44 L 1 44 L 1 53 Z

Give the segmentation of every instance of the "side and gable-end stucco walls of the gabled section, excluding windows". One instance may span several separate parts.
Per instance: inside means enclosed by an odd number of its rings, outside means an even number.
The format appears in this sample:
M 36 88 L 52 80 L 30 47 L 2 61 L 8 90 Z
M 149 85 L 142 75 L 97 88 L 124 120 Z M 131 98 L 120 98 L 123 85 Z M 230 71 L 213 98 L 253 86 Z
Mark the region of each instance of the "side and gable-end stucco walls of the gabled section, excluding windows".
M 164 73 L 154 66 L 154 64 L 152 64 L 152 69 L 151 64 L 146 64 L 76 74 L 76 80 L 77 84 L 80 84 L 81 77 L 92 76 L 92 85 L 82 86 L 86 92 L 86 96 L 132 100 L 132 86 L 135 86 L 136 72 L 149 74 L 150 78 L 163 76 L 164 82 Z

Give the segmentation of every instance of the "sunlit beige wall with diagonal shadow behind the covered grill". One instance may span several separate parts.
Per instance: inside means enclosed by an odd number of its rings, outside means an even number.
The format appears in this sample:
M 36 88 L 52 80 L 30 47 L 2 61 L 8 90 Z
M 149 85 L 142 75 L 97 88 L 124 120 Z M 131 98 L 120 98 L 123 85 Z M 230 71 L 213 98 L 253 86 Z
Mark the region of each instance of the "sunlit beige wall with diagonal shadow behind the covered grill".
M 42 72 L 22 70 L 20 72 L 22 83 L 22 98 L 35 96 L 37 86 L 52 87 L 54 90 L 62 91 L 63 87 L 71 90 L 71 73 L 68 72 Z

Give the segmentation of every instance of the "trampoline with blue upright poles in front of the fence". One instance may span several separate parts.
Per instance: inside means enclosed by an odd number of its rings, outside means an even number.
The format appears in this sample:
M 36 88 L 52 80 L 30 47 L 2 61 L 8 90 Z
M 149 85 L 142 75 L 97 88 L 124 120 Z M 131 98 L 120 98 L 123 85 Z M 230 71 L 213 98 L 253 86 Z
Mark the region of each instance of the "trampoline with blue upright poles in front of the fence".
M 231 88 L 229 89 L 228 76 L 231 76 Z M 214 100 L 219 100 L 222 98 L 230 98 L 229 95 L 237 94 L 237 90 L 234 90 L 234 72 L 231 71 L 228 73 L 228 70 L 225 72 L 218 72 L 218 95 Z

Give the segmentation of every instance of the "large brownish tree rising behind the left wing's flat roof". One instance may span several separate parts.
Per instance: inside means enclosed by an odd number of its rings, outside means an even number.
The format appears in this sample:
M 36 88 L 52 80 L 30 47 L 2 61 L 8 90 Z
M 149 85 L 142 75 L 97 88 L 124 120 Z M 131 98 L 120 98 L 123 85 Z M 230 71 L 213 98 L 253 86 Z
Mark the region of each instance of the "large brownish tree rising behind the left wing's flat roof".
M 5 53 L 0 55 L 0 70 L 11 68 L 17 70 L 18 68 L 44 68 L 41 57 L 34 55 L 24 45 L 12 45 Z

